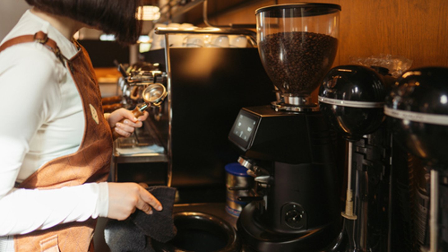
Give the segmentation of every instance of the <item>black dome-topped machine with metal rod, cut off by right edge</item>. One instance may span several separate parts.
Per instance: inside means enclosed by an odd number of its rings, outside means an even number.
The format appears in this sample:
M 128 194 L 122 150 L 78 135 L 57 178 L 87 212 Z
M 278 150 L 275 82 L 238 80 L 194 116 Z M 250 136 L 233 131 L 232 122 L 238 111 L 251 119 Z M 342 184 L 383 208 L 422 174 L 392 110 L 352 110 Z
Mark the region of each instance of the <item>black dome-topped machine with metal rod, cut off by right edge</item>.
M 439 178 L 447 178 L 448 172 L 448 68 L 405 72 L 387 97 L 384 113 L 390 117 L 393 137 L 431 170 L 430 239 L 420 250 L 446 251 L 448 241 L 441 237 L 447 227 L 440 223 L 446 222 L 448 214 L 439 212 L 444 202 L 439 195 Z

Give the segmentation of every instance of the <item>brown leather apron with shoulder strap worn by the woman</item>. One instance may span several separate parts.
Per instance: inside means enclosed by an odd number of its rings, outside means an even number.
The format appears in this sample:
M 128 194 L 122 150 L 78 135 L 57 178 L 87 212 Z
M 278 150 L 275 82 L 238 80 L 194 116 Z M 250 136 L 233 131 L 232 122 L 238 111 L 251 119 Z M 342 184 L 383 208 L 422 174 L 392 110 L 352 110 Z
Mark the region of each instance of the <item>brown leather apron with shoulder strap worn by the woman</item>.
M 43 32 L 11 39 L 0 47 L 0 52 L 14 44 L 32 41 L 42 43 L 55 52 L 62 62 L 65 61 L 56 43 L 48 39 Z M 102 182 L 108 177 L 112 156 L 112 133 L 103 116 L 99 86 L 90 58 L 81 45 L 78 44 L 78 47 L 81 48 L 79 52 L 65 61 L 65 66 L 76 83 L 84 108 L 86 123 L 81 145 L 77 152 L 44 164 L 20 183 L 17 186 L 19 188 L 55 189 L 86 182 Z M 30 206 L 30 209 L 32 208 L 33 206 Z M 90 218 L 85 222 L 65 223 L 26 235 L 15 235 L 14 249 L 16 252 L 93 251 L 91 240 L 95 225 L 96 220 Z

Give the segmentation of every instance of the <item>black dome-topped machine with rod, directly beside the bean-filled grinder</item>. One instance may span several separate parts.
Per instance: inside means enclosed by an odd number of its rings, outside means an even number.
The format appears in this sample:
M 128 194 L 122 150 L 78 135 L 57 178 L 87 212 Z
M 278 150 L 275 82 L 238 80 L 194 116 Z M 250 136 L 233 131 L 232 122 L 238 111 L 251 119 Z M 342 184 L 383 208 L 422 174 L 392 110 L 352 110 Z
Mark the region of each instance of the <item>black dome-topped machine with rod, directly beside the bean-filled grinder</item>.
M 383 107 L 395 79 L 380 72 L 362 65 L 337 66 L 328 71 L 319 89 L 322 113 L 348 145 L 341 215 L 349 252 L 389 251 L 391 151 Z

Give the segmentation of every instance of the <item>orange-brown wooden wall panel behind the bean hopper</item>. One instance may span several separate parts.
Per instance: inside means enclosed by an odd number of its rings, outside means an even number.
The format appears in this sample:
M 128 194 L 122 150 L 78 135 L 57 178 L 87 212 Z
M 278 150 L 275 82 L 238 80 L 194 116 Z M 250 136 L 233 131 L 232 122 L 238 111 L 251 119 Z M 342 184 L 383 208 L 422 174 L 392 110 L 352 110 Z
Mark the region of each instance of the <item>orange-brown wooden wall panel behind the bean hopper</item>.
M 260 0 L 211 19 L 217 24 L 254 23 L 255 9 L 275 0 Z M 297 1 L 278 0 L 279 4 Z M 412 67 L 448 67 L 447 0 L 310 0 L 340 4 L 340 45 L 334 65 L 352 57 L 403 56 Z

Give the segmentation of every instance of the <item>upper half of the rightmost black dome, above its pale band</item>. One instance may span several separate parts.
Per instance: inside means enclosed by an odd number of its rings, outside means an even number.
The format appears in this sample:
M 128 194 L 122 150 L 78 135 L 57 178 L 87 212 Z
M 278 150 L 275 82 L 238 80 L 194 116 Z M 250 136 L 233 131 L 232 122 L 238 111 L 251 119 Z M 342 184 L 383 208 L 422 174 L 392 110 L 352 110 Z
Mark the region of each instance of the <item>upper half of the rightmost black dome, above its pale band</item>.
M 392 87 L 386 108 L 448 115 L 448 68 L 425 67 L 405 72 Z

